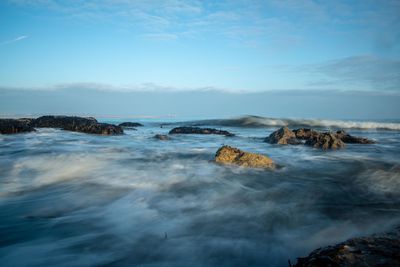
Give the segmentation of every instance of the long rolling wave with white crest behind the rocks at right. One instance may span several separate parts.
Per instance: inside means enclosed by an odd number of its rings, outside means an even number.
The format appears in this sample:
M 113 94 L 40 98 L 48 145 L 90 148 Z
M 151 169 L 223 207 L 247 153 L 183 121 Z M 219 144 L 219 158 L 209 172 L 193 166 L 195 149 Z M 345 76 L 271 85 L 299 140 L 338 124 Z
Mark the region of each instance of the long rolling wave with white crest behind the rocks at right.
M 190 122 L 192 125 L 219 125 L 228 127 L 319 127 L 339 129 L 382 129 L 400 130 L 400 123 L 374 122 L 374 121 L 344 121 L 344 120 L 319 120 L 319 119 L 274 119 L 260 116 L 244 116 L 232 119 L 213 119 Z

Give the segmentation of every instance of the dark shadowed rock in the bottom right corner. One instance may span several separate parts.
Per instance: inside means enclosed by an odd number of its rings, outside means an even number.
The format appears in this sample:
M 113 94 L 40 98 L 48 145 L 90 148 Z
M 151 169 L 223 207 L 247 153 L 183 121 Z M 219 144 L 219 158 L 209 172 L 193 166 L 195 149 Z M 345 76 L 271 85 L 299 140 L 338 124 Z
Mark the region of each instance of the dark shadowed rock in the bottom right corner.
M 298 258 L 294 266 L 400 266 L 400 227 L 316 249 L 307 257 Z

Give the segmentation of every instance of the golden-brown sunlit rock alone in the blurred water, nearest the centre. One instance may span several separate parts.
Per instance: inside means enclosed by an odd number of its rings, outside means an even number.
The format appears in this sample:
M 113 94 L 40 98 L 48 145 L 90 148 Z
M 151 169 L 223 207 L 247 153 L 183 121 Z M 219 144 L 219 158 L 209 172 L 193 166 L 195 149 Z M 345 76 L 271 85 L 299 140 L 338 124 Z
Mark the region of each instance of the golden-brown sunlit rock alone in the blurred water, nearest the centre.
M 275 168 L 275 163 L 267 156 L 245 152 L 230 146 L 219 148 L 215 154 L 215 161 L 250 168 Z

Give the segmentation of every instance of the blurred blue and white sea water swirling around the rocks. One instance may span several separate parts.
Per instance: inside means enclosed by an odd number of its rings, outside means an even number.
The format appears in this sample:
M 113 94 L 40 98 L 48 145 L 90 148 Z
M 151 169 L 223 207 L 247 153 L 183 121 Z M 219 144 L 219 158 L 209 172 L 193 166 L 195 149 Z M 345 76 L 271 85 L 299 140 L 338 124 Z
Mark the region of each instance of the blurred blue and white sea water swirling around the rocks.
M 398 122 L 142 122 L 121 136 L 0 135 L 0 266 L 288 266 L 400 223 Z M 153 138 L 187 124 L 236 136 Z M 263 142 L 283 124 L 346 128 L 377 144 L 321 151 Z M 217 165 L 223 144 L 279 168 Z

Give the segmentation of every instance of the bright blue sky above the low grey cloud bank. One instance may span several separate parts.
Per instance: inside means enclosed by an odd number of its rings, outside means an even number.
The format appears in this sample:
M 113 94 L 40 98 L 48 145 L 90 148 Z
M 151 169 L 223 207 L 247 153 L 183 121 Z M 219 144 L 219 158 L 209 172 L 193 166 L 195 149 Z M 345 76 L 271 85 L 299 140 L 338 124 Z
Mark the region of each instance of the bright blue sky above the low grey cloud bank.
M 399 0 L 4 0 L 0 104 L 9 90 L 397 97 L 399 14 Z

